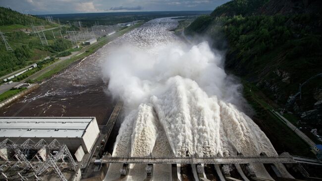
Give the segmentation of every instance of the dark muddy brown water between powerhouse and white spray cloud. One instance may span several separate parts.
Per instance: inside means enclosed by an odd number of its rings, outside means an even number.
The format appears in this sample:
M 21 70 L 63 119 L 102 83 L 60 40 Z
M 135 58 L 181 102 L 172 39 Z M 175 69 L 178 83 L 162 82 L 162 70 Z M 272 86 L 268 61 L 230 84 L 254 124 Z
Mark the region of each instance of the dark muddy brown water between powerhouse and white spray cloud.
M 96 117 L 98 124 L 106 124 L 116 101 L 106 92 L 99 59 L 95 53 L 71 65 L 2 108 L 0 117 Z

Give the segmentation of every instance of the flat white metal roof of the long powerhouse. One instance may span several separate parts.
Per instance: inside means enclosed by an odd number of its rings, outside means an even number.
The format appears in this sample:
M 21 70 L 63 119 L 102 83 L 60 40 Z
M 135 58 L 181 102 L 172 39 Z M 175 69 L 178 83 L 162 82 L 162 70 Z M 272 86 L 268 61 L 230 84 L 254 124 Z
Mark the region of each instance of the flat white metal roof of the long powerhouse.
M 94 118 L 0 118 L 0 137 L 82 137 Z

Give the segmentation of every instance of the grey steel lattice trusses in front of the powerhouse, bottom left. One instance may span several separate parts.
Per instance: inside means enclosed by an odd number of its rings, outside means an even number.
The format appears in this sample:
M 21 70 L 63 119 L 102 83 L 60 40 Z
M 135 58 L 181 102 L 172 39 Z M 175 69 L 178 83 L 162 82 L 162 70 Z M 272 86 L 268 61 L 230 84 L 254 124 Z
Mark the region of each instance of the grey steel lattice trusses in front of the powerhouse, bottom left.
M 45 159 L 39 155 L 41 149 L 54 151 L 54 154 L 48 154 Z M 12 150 L 14 155 L 11 158 L 5 155 L 3 150 Z M 33 157 L 28 159 L 28 152 Z M 5 151 L 7 152 L 7 151 Z M 3 162 L 0 165 L 0 180 L 10 180 L 10 177 L 15 177 L 22 181 L 32 178 L 33 180 L 40 181 L 41 175 L 45 172 L 55 171 L 61 181 L 67 181 L 62 172 L 60 171 L 60 166 L 66 165 L 73 171 L 76 171 L 77 164 L 74 161 L 70 151 L 65 144 L 60 144 L 56 139 L 54 139 L 50 144 L 48 144 L 44 139 L 41 139 L 35 143 L 31 139 L 27 139 L 22 144 L 15 144 L 10 139 L 5 139 L 0 142 L 0 156 Z M 68 159 L 67 165 L 65 159 Z M 14 173 L 12 175 L 12 173 Z M 10 175 L 11 174 L 11 175 Z

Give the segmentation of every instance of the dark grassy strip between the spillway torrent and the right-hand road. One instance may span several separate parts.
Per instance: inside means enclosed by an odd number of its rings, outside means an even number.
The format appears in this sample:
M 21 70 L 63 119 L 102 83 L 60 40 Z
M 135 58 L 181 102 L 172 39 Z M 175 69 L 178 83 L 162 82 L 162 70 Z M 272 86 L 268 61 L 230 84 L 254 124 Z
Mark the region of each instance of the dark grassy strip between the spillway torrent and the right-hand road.
M 276 108 L 276 105 L 270 103 L 269 99 L 254 85 L 246 81 L 242 81 L 242 83 L 244 85 L 244 97 L 256 111 L 254 121 L 268 135 L 275 149 L 293 155 L 315 157 L 310 146 L 271 113 L 270 110 Z

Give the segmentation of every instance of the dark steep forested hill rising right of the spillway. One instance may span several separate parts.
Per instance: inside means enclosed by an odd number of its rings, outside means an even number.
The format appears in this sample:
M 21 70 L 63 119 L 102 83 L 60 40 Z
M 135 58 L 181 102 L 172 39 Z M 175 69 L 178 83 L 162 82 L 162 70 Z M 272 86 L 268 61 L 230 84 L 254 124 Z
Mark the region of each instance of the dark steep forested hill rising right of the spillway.
M 319 0 L 232 0 L 200 16 L 185 34 L 209 37 L 226 50 L 225 69 L 263 92 L 275 108 L 296 114 L 295 123 L 322 134 L 322 8 Z M 220 36 L 222 35 L 222 36 Z M 268 101 L 269 102 L 269 101 Z

